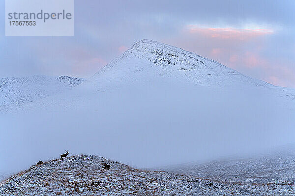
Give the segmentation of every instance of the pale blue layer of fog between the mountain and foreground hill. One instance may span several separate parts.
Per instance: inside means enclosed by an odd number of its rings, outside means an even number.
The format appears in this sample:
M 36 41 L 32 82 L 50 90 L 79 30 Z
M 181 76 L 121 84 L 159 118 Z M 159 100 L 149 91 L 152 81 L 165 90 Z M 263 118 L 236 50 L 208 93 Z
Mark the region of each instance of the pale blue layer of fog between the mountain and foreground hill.
M 266 88 L 80 89 L 1 115 L 0 173 L 59 158 L 65 149 L 136 168 L 255 153 L 294 142 L 295 111 L 284 101 Z

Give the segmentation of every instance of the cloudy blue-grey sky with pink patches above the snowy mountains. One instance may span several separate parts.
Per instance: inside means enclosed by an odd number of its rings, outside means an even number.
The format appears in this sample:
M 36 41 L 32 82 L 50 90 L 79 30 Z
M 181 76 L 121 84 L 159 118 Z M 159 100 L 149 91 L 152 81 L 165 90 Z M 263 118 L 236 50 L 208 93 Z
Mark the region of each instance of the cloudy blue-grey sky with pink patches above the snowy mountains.
M 0 77 L 90 77 L 152 39 L 295 87 L 294 0 L 75 0 L 74 37 L 5 37 L 0 8 Z

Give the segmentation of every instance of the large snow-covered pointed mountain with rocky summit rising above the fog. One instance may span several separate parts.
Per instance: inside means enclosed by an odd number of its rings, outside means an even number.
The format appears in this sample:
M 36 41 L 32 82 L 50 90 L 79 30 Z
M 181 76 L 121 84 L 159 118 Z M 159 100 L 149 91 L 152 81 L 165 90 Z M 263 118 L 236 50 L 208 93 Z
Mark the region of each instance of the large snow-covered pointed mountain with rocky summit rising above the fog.
M 233 94 L 260 88 L 251 93 L 259 95 L 257 92 L 261 91 L 262 94 L 270 98 L 276 96 L 295 100 L 295 90 L 293 89 L 273 86 L 177 47 L 152 40 L 142 40 L 77 88 L 60 96 L 27 104 L 17 112 L 43 106 L 50 109 L 48 103 L 76 107 L 78 102 L 81 105 L 81 102 L 84 103 L 87 100 L 86 102 L 94 101 L 93 104 L 97 104 L 96 98 L 101 94 L 118 89 L 126 89 L 125 93 L 131 89 L 140 89 L 145 92 L 152 87 L 160 92 L 167 92 L 169 91 L 167 87 L 170 89 L 175 87 L 176 89 L 172 91 L 177 91 L 182 86 L 187 86 L 187 89 L 206 87 L 213 91 L 228 92 L 234 89 L 234 92 L 230 92 Z M 195 96 L 197 92 L 192 91 L 191 93 L 190 96 Z

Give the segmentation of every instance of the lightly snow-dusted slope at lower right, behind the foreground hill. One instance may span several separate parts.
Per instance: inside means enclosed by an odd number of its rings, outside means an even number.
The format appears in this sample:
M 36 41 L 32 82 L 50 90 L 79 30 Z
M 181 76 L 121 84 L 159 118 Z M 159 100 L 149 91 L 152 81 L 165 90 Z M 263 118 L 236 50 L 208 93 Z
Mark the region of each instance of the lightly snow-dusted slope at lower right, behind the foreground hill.
M 203 164 L 182 164 L 160 170 L 223 182 L 294 183 L 295 145 L 242 159 L 223 159 Z

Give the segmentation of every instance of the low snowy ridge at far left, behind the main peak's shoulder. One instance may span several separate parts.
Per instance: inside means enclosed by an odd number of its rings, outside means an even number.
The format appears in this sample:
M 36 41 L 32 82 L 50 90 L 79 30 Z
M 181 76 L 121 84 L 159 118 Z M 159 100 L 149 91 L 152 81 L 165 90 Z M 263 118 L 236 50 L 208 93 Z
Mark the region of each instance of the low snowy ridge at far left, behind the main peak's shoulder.
M 0 112 L 34 100 L 55 95 L 81 82 L 70 76 L 8 77 L 0 79 Z

